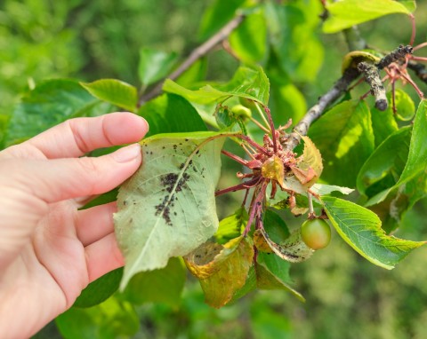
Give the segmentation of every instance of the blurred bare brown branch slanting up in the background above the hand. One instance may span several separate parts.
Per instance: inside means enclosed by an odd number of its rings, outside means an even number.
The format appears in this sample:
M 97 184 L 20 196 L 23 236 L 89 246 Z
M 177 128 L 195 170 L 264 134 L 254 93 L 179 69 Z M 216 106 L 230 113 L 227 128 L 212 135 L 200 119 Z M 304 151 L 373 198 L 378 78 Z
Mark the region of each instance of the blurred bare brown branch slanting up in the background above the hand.
M 222 43 L 223 40 L 227 39 L 230 33 L 238 28 L 238 26 L 245 20 L 245 14 L 238 14 L 233 20 L 227 23 L 223 28 L 221 28 L 216 34 L 210 37 L 205 43 L 202 43 L 194 51 L 189 54 L 189 57 L 185 59 L 181 66 L 178 67 L 172 74 L 168 75 L 167 78 L 175 80 L 180 75 L 182 75 L 191 65 L 193 65 L 198 59 L 202 58 L 211 51 L 218 43 Z M 138 101 L 138 106 L 143 105 L 149 99 L 156 98 L 162 92 L 164 81 L 157 83 L 157 85 L 148 93 L 145 93 L 141 96 Z

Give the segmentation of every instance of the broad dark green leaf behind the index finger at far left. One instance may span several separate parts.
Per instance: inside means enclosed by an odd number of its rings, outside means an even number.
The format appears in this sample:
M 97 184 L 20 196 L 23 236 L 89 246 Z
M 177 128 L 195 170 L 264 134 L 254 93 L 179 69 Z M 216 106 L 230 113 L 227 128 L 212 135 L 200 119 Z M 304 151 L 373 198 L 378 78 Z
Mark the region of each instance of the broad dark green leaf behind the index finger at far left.
M 77 81 L 46 81 L 28 91 L 15 107 L 4 144 L 17 144 L 70 118 L 110 111 L 111 106 L 94 99 Z

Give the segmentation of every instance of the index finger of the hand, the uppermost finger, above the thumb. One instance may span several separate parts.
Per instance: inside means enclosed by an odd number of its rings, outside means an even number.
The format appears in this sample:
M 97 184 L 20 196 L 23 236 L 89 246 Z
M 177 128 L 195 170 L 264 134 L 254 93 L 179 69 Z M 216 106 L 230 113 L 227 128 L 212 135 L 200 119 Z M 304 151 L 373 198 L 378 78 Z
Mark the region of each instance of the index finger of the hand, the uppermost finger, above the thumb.
M 72 158 L 97 148 L 140 141 L 148 130 L 149 125 L 141 116 L 116 112 L 62 122 L 20 146 L 34 146 L 48 159 Z

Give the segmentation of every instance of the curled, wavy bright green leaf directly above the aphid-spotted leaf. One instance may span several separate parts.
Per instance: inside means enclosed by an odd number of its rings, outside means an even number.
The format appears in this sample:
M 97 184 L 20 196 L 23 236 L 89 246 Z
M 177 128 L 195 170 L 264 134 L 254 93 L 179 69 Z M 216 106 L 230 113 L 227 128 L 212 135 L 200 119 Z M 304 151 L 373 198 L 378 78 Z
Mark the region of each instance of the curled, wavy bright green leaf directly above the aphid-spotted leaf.
M 261 67 L 239 67 L 229 83 L 215 86 L 205 85 L 197 91 L 191 91 L 178 83 L 173 83 L 170 79 L 166 79 L 163 91 L 181 95 L 191 103 L 212 104 L 222 102 L 230 97 L 240 97 L 267 106 L 270 83 Z

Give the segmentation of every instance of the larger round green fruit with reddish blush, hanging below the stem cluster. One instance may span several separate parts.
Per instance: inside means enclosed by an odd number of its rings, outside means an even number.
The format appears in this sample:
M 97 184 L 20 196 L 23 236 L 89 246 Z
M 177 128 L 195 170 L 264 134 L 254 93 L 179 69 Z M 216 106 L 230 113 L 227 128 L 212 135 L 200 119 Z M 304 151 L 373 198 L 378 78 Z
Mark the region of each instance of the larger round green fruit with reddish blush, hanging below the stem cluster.
M 309 248 L 326 248 L 331 240 L 331 228 L 324 219 L 309 219 L 301 226 L 301 237 Z

